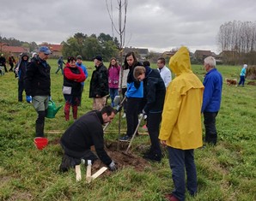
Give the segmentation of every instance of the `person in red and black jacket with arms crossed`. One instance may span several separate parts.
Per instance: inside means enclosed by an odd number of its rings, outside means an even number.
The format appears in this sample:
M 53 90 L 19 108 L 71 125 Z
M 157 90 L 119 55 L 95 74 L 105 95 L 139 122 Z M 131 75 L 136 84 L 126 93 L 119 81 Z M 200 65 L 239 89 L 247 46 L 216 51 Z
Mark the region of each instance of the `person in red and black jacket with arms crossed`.
M 81 102 L 81 82 L 86 79 L 82 68 L 76 66 L 76 58 L 70 56 L 64 68 L 63 93 L 65 98 L 65 120 L 70 120 L 70 106 L 72 106 L 73 118 L 77 119 L 77 109 Z

